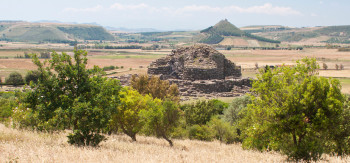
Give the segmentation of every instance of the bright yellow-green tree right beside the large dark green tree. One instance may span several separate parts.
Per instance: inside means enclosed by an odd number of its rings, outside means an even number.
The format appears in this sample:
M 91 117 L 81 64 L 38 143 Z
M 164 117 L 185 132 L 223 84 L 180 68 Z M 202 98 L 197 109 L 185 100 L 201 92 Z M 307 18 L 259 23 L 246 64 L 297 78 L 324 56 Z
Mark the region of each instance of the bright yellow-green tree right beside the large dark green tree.
M 149 95 L 141 95 L 136 90 L 125 87 L 120 93 L 120 101 L 117 114 L 113 115 L 113 122 L 118 123 L 123 132 L 136 141 L 136 134 L 144 125 L 140 112 L 160 105 L 160 100 L 154 101 Z

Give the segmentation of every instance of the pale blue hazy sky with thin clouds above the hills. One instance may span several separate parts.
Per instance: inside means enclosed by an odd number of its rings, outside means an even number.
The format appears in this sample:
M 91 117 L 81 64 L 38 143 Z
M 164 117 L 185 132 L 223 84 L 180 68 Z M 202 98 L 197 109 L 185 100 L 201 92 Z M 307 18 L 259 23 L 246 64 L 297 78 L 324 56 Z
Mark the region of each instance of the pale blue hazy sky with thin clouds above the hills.
M 243 27 L 350 25 L 350 0 L 0 0 L 0 20 L 200 30 L 222 19 Z

